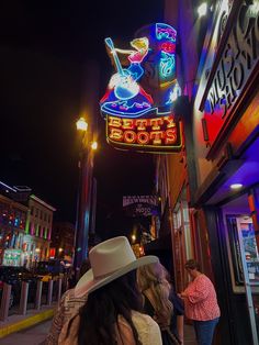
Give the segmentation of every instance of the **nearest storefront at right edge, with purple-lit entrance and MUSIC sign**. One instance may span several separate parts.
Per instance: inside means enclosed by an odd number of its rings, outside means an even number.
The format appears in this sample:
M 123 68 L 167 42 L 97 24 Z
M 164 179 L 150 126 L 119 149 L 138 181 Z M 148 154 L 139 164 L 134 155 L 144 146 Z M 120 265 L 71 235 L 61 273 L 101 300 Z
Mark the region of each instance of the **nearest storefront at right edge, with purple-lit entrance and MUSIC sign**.
M 259 340 L 258 4 L 216 9 L 194 101 L 193 248 L 216 286 L 218 344 Z

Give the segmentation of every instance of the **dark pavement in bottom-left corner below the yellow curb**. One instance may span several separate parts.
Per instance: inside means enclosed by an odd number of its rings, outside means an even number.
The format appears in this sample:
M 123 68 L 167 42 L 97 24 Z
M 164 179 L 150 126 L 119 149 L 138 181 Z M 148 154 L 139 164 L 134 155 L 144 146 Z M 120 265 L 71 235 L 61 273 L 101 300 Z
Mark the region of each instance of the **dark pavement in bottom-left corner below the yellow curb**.
M 1 345 L 40 345 L 46 338 L 52 321 L 8 335 L 0 340 Z

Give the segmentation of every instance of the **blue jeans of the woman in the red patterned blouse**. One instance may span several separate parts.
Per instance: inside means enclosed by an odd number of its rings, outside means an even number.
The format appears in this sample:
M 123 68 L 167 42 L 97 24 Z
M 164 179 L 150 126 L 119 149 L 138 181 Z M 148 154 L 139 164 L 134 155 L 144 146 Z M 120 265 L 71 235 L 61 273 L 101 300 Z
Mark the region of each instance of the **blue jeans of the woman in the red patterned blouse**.
M 193 320 L 196 341 L 199 345 L 212 345 L 213 334 L 219 318 L 209 321 Z

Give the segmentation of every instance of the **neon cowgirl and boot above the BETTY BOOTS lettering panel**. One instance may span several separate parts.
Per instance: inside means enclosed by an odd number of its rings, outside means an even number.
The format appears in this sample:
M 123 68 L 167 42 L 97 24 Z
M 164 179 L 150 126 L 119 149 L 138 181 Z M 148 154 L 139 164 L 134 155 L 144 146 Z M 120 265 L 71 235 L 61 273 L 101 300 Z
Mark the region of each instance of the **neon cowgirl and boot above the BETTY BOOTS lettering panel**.
M 134 51 L 114 48 L 112 40 L 105 40 L 117 73 L 100 101 L 103 114 L 148 118 L 170 113 L 180 93 L 176 79 L 176 35 L 170 25 L 157 23 L 137 32 L 140 38 L 131 42 Z M 122 68 L 116 53 L 128 55 L 130 67 Z

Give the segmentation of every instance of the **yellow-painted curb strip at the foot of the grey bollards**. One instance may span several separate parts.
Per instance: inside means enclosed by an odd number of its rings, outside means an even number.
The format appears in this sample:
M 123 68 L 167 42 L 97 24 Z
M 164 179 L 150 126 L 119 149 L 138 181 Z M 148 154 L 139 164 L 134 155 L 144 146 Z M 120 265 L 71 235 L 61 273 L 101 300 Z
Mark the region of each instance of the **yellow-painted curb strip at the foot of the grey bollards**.
M 7 321 L 0 321 L 0 338 L 22 331 L 53 318 L 55 305 L 43 305 L 41 310 L 29 310 L 26 315 L 11 315 Z

